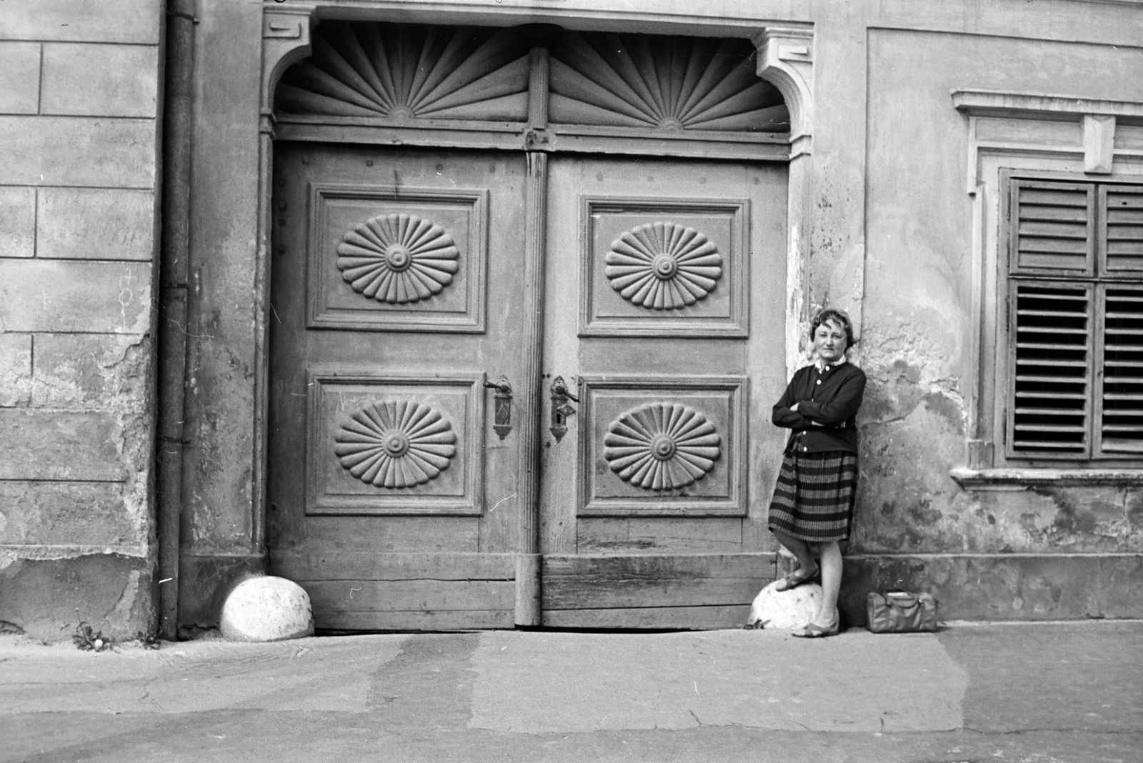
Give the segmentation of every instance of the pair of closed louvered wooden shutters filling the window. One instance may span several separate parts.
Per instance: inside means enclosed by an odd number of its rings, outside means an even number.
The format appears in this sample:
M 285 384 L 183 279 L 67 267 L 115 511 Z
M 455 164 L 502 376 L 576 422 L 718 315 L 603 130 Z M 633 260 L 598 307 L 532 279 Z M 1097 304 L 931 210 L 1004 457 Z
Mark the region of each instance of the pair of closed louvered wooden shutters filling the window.
M 1007 452 L 1143 455 L 1143 185 L 1013 178 Z

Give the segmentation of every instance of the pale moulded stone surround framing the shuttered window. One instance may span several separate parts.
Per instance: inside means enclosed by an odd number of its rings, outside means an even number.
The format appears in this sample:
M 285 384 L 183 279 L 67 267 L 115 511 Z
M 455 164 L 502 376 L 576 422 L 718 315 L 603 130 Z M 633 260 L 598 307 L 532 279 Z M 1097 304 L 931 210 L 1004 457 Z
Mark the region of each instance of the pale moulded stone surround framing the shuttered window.
M 967 118 L 967 187 L 973 198 L 970 356 L 978 374 L 970 380 L 967 466 L 950 471 L 966 490 L 1025 490 L 1036 485 L 1143 485 L 1143 468 L 997 466 L 992 445 L 996 423 L 996 328 L 1000 258 L 1000 170 L 1082 174 L 1098 179 L 1143 179 L 1143 103 L 1066 95 L 996 90 L 953 90 L 952 105 Z M 1037 140 L 1028 135 L 997 136 L 985 120 L 1076 125 L 1078 140 Z M 1033 128 L 1036 126 L 1029 125 Z M 1049 126 L 1050 127 L 1050 126 Z M 1133 139 L 1117 144 L 1117 129 Z M 1126 132 L 1127 130 L 1122 130 Z M 1030 129 L 1028 132 L 1036 132 Z M 1121 136 L 1125 137 L 1126 136 Z

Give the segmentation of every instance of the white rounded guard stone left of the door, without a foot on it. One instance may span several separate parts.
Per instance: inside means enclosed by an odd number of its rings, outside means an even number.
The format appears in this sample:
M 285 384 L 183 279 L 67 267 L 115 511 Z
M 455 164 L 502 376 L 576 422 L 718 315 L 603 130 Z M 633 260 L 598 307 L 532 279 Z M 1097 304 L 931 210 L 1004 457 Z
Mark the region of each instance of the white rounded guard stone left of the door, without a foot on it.
M 250 578 L 222 605 L 222 635 L 230 641 L 282 641 L 313 635 L 310 594 L 286 578 Z

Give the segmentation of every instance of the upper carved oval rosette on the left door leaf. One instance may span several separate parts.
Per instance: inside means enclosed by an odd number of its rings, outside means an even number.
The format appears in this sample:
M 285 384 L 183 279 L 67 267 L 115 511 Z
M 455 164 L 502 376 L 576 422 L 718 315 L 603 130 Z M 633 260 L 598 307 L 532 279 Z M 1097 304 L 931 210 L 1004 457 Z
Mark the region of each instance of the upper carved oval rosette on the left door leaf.
M 416 215 L 378 215 L 342 236 L 337 270 L 353 290 L 389 304 L 440 294 L 459 270 L 453 236 Z

